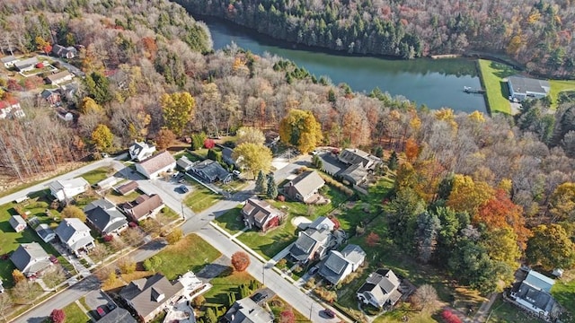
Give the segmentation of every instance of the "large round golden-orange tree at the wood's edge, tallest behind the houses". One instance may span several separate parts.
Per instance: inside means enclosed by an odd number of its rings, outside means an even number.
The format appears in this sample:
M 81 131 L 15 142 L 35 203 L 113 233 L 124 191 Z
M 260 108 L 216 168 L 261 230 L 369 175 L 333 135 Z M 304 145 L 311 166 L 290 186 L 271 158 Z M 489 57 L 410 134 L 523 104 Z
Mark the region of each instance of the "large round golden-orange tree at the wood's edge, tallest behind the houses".
M 295 146 L 302 153 L 309 153 L 322 142 L 322 127 L 312 111 L 291 109 L 279 122 L 282 143 Z

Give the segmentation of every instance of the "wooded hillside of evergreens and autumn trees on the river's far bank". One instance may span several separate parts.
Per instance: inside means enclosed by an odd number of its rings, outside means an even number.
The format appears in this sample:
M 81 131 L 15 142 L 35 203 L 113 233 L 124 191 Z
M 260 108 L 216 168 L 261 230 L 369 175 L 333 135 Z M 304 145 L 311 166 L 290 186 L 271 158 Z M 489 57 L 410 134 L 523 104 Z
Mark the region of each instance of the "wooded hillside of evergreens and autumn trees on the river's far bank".
M 532 73 L 575 71 L 569 1 L 175 1 L 308 46 L 403 58 L 475 50 L 505 53 Z

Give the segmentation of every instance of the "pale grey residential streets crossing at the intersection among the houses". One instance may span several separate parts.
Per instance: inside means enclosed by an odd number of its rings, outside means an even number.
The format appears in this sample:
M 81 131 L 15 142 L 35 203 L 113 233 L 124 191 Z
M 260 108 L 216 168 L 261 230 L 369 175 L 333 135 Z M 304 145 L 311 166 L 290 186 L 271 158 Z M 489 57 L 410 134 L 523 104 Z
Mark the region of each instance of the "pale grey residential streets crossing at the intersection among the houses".
M 233 196 L 219 201 L 217 204 L 212 205 L 199 214 L 194 214 L 190 208 L 188 208 L 186 205 L 183 205 L 182 200 L 184 195 L 179 194 L 175 189 L 181 184 L 168 182 L 164 179 L 144 179 L 139 174 L 127 168 L 123 163 L 118 162 L 122 157 L 123 156 L 119 156 L 116 160 L 107 158 L 102 161 L 93 162 L 90 165 L 84 166 L 78 170 L 73 170 L 55 179 L 49 179 L 45 182 L 14 193 L 10 196 L 4 196 L 0 198 L 0 204 L 11 202 L 18 197 L 25 196 L 29 192 L 45 189 L 48 187 L 49 182 L 53 180 L 72 179 L 84 174 L 87 171 L 95 170 L 100 167 L 110 166 L 115 170 L 118 170 L 118 173 L 116 174 L 117 177 L 136 180 L 139 187 L 142 188 L 145 192 L 160 195 L 167 206 L 172 208 L 178 214 L 183 213 L 186 219 L 186 222 L 181 226 L 184 234 L 189 234 L 191 232 L 198 233 L 203 239 L 207 240 L 208 243 L 210 243 L 227 257 L 231 257 L 235 251 L 243 250 L 232 240 L 227 239 L 226 236 L 222 235 L 211 225 L 209 225 L 209 222 L 214 220 L 215 216 L 217 217 L 221 214 L 225 214 L 229 209 L 234 208 L 236 205 L 252 196 L 252 182 L 246 188 L 244 188 L 243 191 L 237 192 Z M 287 166 L 277 170 L 274 173 L 276 181 L 280 182 L 283 179 L 286 179 L 290 174 L 294 173 L 295 170 L 306 165 L 309 160 L 309 156 L 302 156 L 299 161 L 289 163 Z M 152 241 L 140 249 L 132 252 L 130 255 L 136 261 L 142 261 L 163 249 L 164 246 L 165 243 L 162 241 Z M 292 307 L 304 314 L 305 317 L 309 318 L 311 316 L 311 319 L 314 322 L 339 321 L 339 319 L 323 318 L 320 314 L 323 310 L 323 306 L 312 300 L 304 292 L 299 290 L 298 287 L 290 284 L 286 279 L 282 278 L 279 274 L 274 272 L 272 268 L 264 269 L 264 264 L 259 259 L 252 256 L 250 257 L 252 258 L 252 264 L 249 266 L 248 272 L 261 282 L 263 282 L 265 278 L 265 282 L 263 283 L 266 284 L 266 286 L 268 286 L 273 292 L 276 292 L 279 297 L 285 301 L 288 301 Z M 264 271 L 265 277 L 262 276 Z M 61 292 L 48 301 L 40 304 L 30 312 L 23 315 L 21 318 L 14 320 L 14 322 L 40 322 L 42 319 L 46 318 L 51 310 L 63 308 L 70 302 L 78 300 L 88 292 L 98 288 L 99 282 L 95 276 L 92 275 L 82 280 L 80 283 L 70 287 L 65 292 Z

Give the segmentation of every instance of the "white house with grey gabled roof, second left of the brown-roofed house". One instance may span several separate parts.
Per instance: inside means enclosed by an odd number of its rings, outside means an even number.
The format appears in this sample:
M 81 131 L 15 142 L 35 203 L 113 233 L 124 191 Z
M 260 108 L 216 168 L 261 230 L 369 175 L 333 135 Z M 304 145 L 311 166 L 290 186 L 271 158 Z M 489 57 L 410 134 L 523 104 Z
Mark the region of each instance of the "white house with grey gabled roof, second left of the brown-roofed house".
M 80 219 L 67 218 L 62 220 L 55 232 L 66 248 L 74 252 L 76 256 L 78 256 L 82 250 L 88 251 L 95 246 L 94 240 L 90 235 L 90 228 L 80 221 Z

